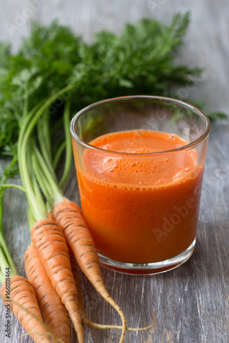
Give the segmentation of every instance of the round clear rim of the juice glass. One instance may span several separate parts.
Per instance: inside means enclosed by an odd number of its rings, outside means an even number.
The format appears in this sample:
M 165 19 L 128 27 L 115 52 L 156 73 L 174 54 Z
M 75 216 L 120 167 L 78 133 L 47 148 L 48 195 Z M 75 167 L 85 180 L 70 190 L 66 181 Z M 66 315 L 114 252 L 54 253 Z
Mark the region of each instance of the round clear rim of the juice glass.
M 140 153 L 140 154 L 131 153 L 131 152 L 114 152 L 111 150 L 102 149 L 100 147 L 94 147 L 93 145 L 85 143 L 85 141 L 83 141 L 82 139 L 80 139 L 80 137 L 78 137 L 78 135 L 76 134 L 76 131 L 74 129 L 75 123 L 76 123 L 76 121 L 78 121 L 80 116 L 83 115 L 83 113 L 85 113 L 85 111 L 89 110 L 89 108 L 97 107 L 103 103 L 108 104 L 109 102 L 116 102 L 116 101 L 120 102 L 121 100 L 131 100 L 131 99 L 152 99 L 152 100 L 154 99 L 154 100 L 159 100 L 159 101 L 165 101 L 168 103 L 170 102 L 173 104 L 178 104 L 178 105 L 184 106 L 190 110 L 193 110 L 193 112 L 195 112 L 197 115 L 199 115 L 199 117 L 202 117 L 204 119 L 204 121 L 205 121 L 204 132 L 203 132 L 203 134 L 201 134 L 201 136 L 199 136 L 197 139 L 195 139 L 195 141 L 188 143 L 187 145 L 183 145 L 182 147 L 177 147 L 173 150 L 164 150 L 162 152 L 149 152 L 149 153 Z M 141 129 L 139 129 L 139 130 L 141 130 Z M 199 110 L 199 108 L 197 108 L 193 105 L 190 105 L 187 102 L 183 102 L 181 100 L 173 99 L 170 97 L 157 97 L 157 96 L 153 96 L 153 95 L 130 95 L 127 97 L 113 97 L 111 99 L 101 100 L 100 102 L 95 102 L 94 104 L 91 104 L 91 105 L 83 108 L 78 113 L 76 113 L 76 115 L 74 115 L 74 117 L 70 123 L 70 132 L 72 134 L 72 138 L 74 139 L 74 141 L 76 141 L 76 143 L 79 143 L 83 147 L 85 147 L 88 150 L 91 150 L 93 152 L 102 152 L 103 154 L 109 154 L 109 155 L 113 155 L 113 156 L 136 156 L 136 155 L 138 155 L 138 156 L 156 156 L 156 155 L 160 155 L 160 154 L 164 154 L 164 153 L 170 154 L 170 153 L 174 153 L 174 152 L 190 150 L 193 147 L 197 147 L 197 145 L 199 145 L 202 141 L 204 141 L 206 139 L 206 137 L 208 137 L 208 134 L 210 132 L 210 121 L 209 121 L 208 117 L 204 114 L 204 112 Z

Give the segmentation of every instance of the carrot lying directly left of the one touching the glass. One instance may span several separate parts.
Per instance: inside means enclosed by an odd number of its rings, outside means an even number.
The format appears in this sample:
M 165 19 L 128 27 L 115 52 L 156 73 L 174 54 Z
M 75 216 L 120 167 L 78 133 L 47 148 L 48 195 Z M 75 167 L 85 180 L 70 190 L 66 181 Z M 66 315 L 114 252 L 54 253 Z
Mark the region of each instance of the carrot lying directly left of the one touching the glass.
M 76 283 L 72 275 L 71 263 L 69 261 L 68 248 L 61 228 L 54 220 L 39 220 L 32 226 L 32 243 L 47 276 L 50 278 L 58 296 L 61 297 L 70 318 L 78 342 L 84 342 L 83 328 L 78 308 L 78 296 Z

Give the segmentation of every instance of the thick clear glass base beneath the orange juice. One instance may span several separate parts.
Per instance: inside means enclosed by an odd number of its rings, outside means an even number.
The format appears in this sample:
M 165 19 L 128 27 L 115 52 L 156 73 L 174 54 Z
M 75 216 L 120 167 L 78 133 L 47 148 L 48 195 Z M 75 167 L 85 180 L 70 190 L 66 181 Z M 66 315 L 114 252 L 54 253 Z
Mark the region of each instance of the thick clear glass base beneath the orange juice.
M 103 255 L 98 254 L 101 265 L 105 268 L 114 270 L 115 272 L 120 272 L 122 274 L 132 274 L 132 275 L 153 275 L 168 272 L 174 268 L 179 267 L 184 262 L 186 262 L 195 249 L 195 241 L 181 254 L 172 257 L 171 259 L 166 259 L 164 261 L 153 262 L 153 263 L 127 263 L 120 262 L 113 259 L 109 259 Z

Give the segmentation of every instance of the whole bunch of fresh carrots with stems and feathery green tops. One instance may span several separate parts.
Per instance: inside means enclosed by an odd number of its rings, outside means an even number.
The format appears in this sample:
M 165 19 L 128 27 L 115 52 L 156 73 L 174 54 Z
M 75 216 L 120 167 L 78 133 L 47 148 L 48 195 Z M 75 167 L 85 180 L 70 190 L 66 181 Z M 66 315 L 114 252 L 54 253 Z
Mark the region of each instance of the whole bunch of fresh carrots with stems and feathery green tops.
M 189 76 L 200 70 L 173 62 L 188 21 L 188 14 L 176 14 L 168 27 L 142 20 L 126 25 L 120 36 L 100 32 L 91 45 L 54 22 L 50 27 L 34 25 L 16 55 L 8 45 L 0 45 L 0 149 L 13 157 L 0 185 L 1 297 L 8 302 L 3 271 L 10 267 L 11 310 L 34 342 L 70 342 L 69 317 L 78 342 L 84 341 L 82 322 L 98 329 L 120 329 L 120 342 L 124 340 L 127 323 L 102 281 L 87 224 L 78 205 L 62 191 L 72 166 L 71 111 L 129 93 L 169 95 L 172 83 L 191 83 Z M 133 44 L 133 37 L 138 44 Z M 95 124 L 91 123 L 91 130 Z M 65 132 L 64 141 L 56 137 L 60 129 Z M 52 139 L 57 142 L 54 146 Z M 57 178 L 56 166 L 63 152 L 63 174 Z M 6 182 L 17 174 L 17 165 L 22 186 Z M 28 279 L 17 275 L 3 238 L 3 192 L 9 187 L 24 191 L 28 198 L 32 240 L 24 257 Z M 116 309 L 121 326 L 89 320 L 78 267 Z

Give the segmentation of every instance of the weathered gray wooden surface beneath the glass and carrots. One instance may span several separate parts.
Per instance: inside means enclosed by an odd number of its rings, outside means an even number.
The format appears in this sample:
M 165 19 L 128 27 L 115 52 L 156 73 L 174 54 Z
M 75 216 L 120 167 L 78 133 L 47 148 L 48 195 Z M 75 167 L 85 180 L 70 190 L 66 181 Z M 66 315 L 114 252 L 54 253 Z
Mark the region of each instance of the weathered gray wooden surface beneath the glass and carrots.
M 191 23 L 179 62 L 204 67 L 201 80 L 190 89 L 178 89 L 189 99 L 203 99 L 210 110 L 229 113 L 229 3 L 228 0 L 37 0 L 39 8 L 11 35 L 7 23 L 17 23 L 25 14 L 28 1 L 0 1 L 0 40 L 10 40 L 14 49 L 26 36 L 30 22 L 50 23 L 58 18 L 75 32 L 91 40 L 94 32 L 111 29 L 118 32 L 125 22 L 155 17 L 168 22 L 175 12 L 191 12 Z M 31 12 L 30 12 L 31 13 Z M 201 198 L 197 246 L 193 257 L 181 267 L 156 276 L 127 276 L 102 268 L 107 289 L 124 310 L 130 327 L 151 323 L 145 332 L 128 332 L 129 343 L 224 343 L 229 342 L 229 123 L 212 125 Z M 3 161 L 1 161 L 3 165 Z M 20 180 L 17 180 L 20 183 Z M 68 198 L 78 202 L 74 168 L 66 187 Z M 25 196 L 6 191 L 4 230 L 6 241 L 17 266 L 25 276 L 23 254 L 30 243 Z M 80 274 L 87 314 L 101 323 L 120 323 L 116 314 Z M 0 303 L 0 342 L 18 343 L 24 333 L 19 322 L 12 322 L 12 338 L 5 338 L 5 309 Z M 117 330 L 85 329 L 85 342 L 118 342 Z M 32 342 L 28 337 L 21 342 Z M 76 336 L 72 333 L 72 342 Z

